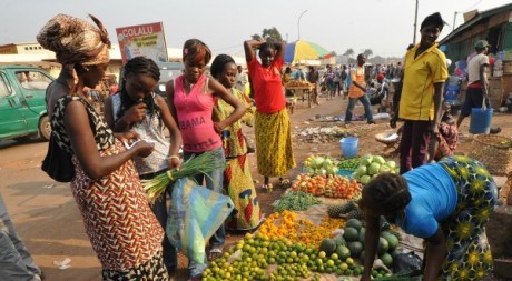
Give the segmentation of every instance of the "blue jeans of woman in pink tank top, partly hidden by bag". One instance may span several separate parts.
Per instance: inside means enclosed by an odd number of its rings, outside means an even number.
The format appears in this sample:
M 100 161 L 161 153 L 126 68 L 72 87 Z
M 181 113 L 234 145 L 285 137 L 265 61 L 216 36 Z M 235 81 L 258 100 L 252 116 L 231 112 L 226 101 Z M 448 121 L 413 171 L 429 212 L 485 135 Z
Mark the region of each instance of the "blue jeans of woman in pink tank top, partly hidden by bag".
M 200 153 L 184 152 L 184 160 L 187 161 L 193 155 L 199 155 L 199 154 Z M 223 193 L 224 170 L 225 170 L 224 165 L 226 164 L 224 149 L 219 148 L 219 149 L 214 150 L 214 155 L 215 155 L 215 159 L 218 161 L 217 163 L 223 163 L 223 168 L 209 172 L 207 177 L 205 174 L 198 174 L 194 177 L 194 180 L 196 180 L 197 184 L 199 185 L 203 184 L 203 182 L 206 180 L 207 189 L 218 192 L 218 193 Z M 209 239 L 209 245 L 210 248 L 223 247 L 225 240 L 226 240 L 226 230 L 223 224 L 218 228 L 218 230 Z M 197 274 L 203 273 L 206 267 L 207 267 L 206 261 L 204 264 L 197 264 L 193 260 L 189 260 L 188 270 L 190 271 L 190 277 L 195 277 Z

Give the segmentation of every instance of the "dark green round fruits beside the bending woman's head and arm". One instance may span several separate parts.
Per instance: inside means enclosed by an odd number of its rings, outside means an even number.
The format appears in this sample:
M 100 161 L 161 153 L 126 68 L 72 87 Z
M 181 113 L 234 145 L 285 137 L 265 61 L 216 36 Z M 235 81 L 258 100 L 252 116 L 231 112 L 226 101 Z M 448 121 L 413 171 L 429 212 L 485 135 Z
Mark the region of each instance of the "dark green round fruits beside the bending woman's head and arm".
M 391 268 L 393 265 L 393 257 L 396 254 L 395 249 L 400 242 L 398 235 L 390 229 L 387 223 L 382 222 L 381 229 L 377 255 L 384 265 Z M 319 250 L 325 251 L 327 254 L 336 252 L 339 258 L 351 257 L 353 259 L 360 259 L 361 262 L 363 262 L 364 235 L 365 228 L 363 227 L 363 222 L 357 219 L 351 219 L 345 224 L 343 237 L 324 239 Z

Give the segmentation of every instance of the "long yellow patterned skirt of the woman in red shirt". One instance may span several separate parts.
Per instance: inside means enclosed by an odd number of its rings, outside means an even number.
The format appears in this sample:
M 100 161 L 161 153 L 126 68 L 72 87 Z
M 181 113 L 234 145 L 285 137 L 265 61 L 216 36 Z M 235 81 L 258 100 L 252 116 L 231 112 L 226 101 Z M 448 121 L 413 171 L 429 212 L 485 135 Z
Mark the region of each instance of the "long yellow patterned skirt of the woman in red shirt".
M 254 133 L 259 174 L 282 177 L 295 167 L 292 128 L 286 109 L 270 114 L 256 111 Z

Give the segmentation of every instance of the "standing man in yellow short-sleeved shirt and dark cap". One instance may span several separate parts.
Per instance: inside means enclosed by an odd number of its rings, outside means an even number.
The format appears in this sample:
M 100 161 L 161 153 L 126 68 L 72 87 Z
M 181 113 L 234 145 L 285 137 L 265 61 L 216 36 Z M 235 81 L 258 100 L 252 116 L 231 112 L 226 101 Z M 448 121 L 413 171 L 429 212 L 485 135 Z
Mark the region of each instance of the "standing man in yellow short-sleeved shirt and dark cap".
M 427 147 L 435 145 L 441 121 L 443 86 L 447 79 L 446 58 L 435 40 L 444 21 L 439 12 L 423 20 L 421 41 L 405 53 L 404 79 L 398 118 L 404 120 L 400 142 L 400 173 L 417 168 L 427 160 Z M 433 161 L 434 154 L 429 153 Z

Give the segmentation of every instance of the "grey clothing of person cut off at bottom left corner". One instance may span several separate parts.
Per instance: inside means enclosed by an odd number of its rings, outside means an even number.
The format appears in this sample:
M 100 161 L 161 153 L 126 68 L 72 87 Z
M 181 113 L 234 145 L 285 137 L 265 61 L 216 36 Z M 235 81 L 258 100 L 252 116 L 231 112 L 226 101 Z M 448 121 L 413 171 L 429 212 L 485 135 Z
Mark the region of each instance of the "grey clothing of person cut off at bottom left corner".
M 12 224 L 0 195 L 0 280 L 40 280 L 41 270 L 33 262 Z

